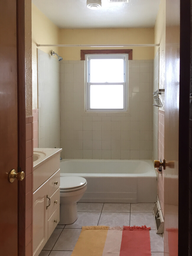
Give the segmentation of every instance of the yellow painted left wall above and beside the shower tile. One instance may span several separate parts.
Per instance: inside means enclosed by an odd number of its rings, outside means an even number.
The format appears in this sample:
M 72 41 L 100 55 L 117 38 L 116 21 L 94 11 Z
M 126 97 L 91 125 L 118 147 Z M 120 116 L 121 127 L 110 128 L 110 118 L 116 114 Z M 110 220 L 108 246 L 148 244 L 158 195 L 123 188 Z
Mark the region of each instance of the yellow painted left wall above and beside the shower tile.
M 36 44 L 58 44 L 59 28 L 32 4 L 32 108 L 38 107 L 38 76 Z M 38 47 L 45 53 L 58 53 L 58 47 Z M 54 58 L 54 57 L 53 57 Z

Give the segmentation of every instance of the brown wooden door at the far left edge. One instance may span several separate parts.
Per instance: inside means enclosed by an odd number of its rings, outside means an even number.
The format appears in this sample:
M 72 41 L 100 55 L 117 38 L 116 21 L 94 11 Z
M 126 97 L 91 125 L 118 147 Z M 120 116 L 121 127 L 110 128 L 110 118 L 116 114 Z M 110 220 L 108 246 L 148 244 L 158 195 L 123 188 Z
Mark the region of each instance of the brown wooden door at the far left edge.
M 17 15 L 16 1 L 0 1 L 0 254 L 17 255 Z

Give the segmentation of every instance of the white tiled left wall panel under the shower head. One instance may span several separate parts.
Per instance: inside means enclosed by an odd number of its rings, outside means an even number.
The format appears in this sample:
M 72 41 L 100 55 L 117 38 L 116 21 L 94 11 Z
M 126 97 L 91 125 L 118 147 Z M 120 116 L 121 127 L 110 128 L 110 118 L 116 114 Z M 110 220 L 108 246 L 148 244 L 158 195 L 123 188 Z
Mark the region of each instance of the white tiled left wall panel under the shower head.
M 38 50 L 38 114 L 40 148 L 60 147 L 60 63 Z

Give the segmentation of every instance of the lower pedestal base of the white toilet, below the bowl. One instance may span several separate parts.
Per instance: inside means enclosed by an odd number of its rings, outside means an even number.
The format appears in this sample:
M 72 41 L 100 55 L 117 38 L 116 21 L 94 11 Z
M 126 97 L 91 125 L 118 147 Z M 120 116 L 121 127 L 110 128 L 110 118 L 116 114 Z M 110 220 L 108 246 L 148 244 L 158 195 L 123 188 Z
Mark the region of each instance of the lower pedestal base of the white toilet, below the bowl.
M 77 220 L 77 203 L 60 204 L 60 225 L 72 224 Z

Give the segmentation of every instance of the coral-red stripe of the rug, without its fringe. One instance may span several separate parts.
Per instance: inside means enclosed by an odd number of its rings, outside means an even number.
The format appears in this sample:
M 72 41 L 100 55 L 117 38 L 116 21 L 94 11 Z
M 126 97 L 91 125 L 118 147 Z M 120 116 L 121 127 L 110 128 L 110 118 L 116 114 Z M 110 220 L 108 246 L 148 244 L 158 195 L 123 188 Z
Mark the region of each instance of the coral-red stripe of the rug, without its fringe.
M 148 230 L 123 230 L 119 256 L 151 256 Z

